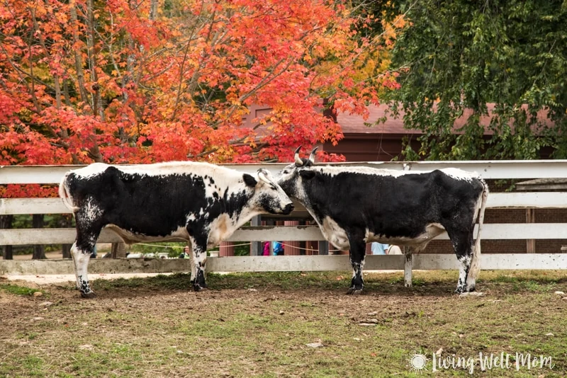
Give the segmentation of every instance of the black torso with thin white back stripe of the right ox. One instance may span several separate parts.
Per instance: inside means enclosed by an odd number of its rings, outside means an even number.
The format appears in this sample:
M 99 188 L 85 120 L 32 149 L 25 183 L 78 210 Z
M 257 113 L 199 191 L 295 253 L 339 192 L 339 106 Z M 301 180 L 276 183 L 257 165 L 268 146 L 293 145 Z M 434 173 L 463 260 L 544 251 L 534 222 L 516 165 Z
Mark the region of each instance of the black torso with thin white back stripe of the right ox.
M 322 169 L 304 181 L 315 219 L 322 225 L 328 217 L 344 230 L 363 234 L 366 242 L 423 249 L 423 242 L 434 232 L 432 227 L 457 232 L 473 222 L 485 188 L 471 176 L 450 176 L 444 171 L 374 171 L 325 173 Z

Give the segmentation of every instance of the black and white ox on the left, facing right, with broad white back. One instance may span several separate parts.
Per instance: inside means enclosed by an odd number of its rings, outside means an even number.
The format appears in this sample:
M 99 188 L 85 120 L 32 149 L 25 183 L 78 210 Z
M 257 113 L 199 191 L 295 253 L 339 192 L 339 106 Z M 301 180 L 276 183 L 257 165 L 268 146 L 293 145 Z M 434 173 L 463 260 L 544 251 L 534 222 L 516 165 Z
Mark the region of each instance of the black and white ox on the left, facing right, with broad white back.
M 258 214 L 293 210 L 293 202 L 265 169 L 250 175 L 196 162 L 95 163 L 67 172 L 59 193 L 77 222 L 72 257 L 82 297 L 94 297 L 87 266 L 104 227 L 116 231 L 127 244 L 188 241 L 191 282 L 199 291 L 206 287 L 207 248 L 217 246 Z

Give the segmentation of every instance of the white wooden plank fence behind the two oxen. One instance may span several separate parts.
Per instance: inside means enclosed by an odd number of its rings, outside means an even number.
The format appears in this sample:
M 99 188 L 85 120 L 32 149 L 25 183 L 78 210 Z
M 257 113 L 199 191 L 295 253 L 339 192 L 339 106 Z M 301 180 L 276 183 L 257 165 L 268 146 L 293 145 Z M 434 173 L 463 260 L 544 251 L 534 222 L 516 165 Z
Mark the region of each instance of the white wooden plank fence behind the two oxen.
M 461 168 L 476 171 L 485 180 L 533 178 L 567 178 L 567 160 L 539 161 L 444 161 L 444 162 L 371 162 L 341 164 L 344 166 L 371 166 L 405 171 L 431 171 L 437 168 Z M 267 168 L 276 174 L 284 164 L 229 165 L 240 171 L 253 173 Z M 65 172 L 79 166 L 1 166 L 0 184 L 55 184 Z M 371 190 L 371 188 L 369 188 Z M 490 193 L 487 208 L 566 208 L 567 193 Z M 301 210 L 299 210 L 301 211 Z M 64 214 L 69 210 L 60 198 L 0 199 L 0 214 Z M 303 210 L 304 213 L 304 210 Z M 296 213 L 297 216 L 297 213 Z M 410 217 L 411 214 L 408 214 Z M 294 217 L 294 214 L 291 214 Z M 475 233 L 476 235 L 476 233 Z M 0 246 L 29 244 L 72 244 L 74 229 L 2 229 Z M 442 234 L 439 239 L 448 239 Z M 484 224 L 483 240 L 511 239 L 567 239 L 566 223 Z M 316 226 L 242 227 L 228 241 L 322 241 Z M 113 231 L 105 229 L 99 243 L 119 242 Z M 426 249 L 427 251 L 427 249 Z M 567 269 L 567 254 L 557 253 L 502 253 L 483 254 L 483 270 L 510 269 Z M 411 269 L 458 269 L 454 254 L 419 254 L 406 256 L 366 256 L 366 270 L 403 269 L 410 282 Z M 183 259 L 95 259 L 91 273 L 165 273 L 189 271 L 189 260 Z M 348 256 L 240 256 L 210 257 L 209 272 L 265 272 L 349 270 Z M 0 260 L 0 274 L 72 274 L 72 263 L 66 260 Z

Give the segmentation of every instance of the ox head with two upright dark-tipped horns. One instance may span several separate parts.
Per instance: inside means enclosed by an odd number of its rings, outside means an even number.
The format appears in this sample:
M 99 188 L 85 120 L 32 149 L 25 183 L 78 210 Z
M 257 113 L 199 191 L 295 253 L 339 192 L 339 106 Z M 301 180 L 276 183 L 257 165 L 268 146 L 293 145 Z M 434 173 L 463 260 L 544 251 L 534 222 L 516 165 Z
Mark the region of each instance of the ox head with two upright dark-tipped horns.
M 315 147 L 313 151 L 311 151 L 308 159 L 299 157 L 300 149 L 301 146 L 296 149 L 295 161 L 278 173 L 278 183 L 290 197 L 297 198 L 301 201 L 304 200 L 302 190 L 303 181 L 308 181 L 315 177 L 315 171 L 310 167 L 315 164 L 315 151 L 317 151 L 318 147 Z

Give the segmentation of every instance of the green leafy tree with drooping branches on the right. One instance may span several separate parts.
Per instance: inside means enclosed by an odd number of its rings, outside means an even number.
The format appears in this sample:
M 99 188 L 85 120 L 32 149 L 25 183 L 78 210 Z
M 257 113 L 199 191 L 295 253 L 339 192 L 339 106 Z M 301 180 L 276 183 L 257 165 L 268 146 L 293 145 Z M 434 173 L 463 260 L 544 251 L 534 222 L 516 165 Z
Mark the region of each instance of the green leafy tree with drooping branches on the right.
M 563 1 L 395 5 L 411 26 L 393 48 L 392 67 L 407 69 L 389 98 L 405 110 L 405 126 L 423 132 L 421 149 L 408 149 L 407 159 L 537 159 L 542 147 L 566 158 Z

